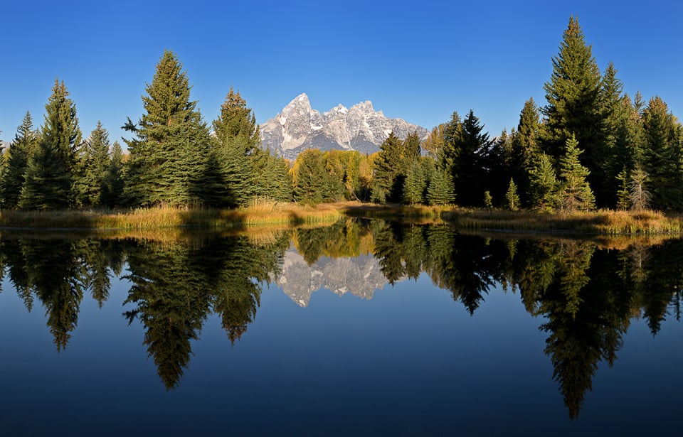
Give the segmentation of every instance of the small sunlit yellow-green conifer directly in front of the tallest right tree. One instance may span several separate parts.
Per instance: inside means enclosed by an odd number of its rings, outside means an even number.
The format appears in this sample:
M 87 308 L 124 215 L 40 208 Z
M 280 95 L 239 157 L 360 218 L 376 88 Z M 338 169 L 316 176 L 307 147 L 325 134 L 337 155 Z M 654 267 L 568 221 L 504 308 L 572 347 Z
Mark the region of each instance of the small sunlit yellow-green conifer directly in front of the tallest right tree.
M 563 178 L 561 188 L 561 203 L 563 210 L 593 210 L 595 197 L 586 178 L 590 173 L 588 168 L 581 165 L 578 156 L 578 141 L 575 136 L 567 140 L 566 154 L 560 159 L 560 176 Z

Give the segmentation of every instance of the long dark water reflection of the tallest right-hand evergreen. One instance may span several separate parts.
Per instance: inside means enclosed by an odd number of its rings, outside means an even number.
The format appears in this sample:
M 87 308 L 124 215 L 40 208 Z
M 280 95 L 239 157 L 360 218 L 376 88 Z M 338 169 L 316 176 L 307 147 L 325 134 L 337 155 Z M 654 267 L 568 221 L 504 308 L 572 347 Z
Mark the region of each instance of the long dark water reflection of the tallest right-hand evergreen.
M 614 271 L 593 270 L 592 243 L 556 243 L 554 280 L 537 295 L 539 313 L 547 318 L 545 352 L 554 367 L 569 416 L 578 416 L 600 360 L 612 365 L 628 324 L 628 296 L 620 296 Z M 609 254 L 600 254 L 607 255 Z M 608 259 L 595 259 L 602 265 Z

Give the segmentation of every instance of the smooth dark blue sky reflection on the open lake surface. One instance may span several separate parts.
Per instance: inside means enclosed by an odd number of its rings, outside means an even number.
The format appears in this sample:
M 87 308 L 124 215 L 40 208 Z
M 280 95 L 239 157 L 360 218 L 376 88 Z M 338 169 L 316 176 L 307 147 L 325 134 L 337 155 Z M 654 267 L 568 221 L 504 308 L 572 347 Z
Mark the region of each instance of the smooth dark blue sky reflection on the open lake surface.
M 369 301 L 314 291 L 307 308 L 270 284 L 234 345 L 220 316 L 208 316 L 170 391 L 142 324 L 122 316 L 132 308 L 122 306 L 128 281 L 112 279 L 102 308 L 84 293 L 61 352 L 41 302 L 28 313 L 7 278 L 2 285 L 0 424 L 9 434 L 585 435 L 677 423 L 683 329 L 672 315 L 654 338 L 644 319 L 631 320 L 615 365 L 599 362 L 570 421 L 544 353 L 546 318 L 499 285 L 470 315 L 426 274 Z

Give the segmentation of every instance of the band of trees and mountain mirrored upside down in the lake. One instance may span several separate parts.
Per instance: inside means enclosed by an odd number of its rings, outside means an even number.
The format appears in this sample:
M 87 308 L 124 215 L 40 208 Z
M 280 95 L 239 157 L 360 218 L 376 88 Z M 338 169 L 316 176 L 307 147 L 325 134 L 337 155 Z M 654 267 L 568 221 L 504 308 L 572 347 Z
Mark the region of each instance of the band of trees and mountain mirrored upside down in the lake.
M 265 284 L 276 284 L 305 307 L 321 288 L 371 299 L 389 284 L 427 275 L 473 317 L 497 287 L 518 293 L 526 311 L 539 318 L 544 352 L 572 419 L 599 363 L 615 363 L 632 320 L 644 319 L 657 335 L 667 316 L 680 319 L 679 240 L 496 237 L 445 225 L 346 220 L 265 236 L 4 234 L 0 257 L 5 279 L 26 309 L 43 306 L 58 351 L 78 329 L 83 298 L 107 305 L 112 281 L 127 282 L 123 316 L 128 324 L 142 324 L 144 347 L 169 390 L 181 382 L 193 340 L 201 340 L 209 316 L 218 315 L 234 343 L 255 320 Z

